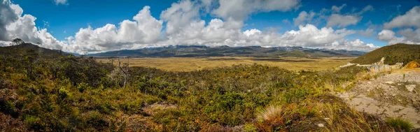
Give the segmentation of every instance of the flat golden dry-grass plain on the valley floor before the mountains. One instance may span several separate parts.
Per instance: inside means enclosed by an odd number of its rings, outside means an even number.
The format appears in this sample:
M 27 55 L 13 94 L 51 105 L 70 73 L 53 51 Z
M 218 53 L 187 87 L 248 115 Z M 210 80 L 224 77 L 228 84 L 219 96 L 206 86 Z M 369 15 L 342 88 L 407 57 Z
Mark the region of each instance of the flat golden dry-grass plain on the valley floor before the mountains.
M 211 69 L 239 64 L 262 64 L 267 66 L 277 66 L 292 71 L 300 70 L 326 70 L 342 66 L 354 57 L 328 57 L 328 58 L 253 58 L 253 57 L 169 57 L 169 58 L 130 58 L 130 66 L 146 66 L 159 68 L 166 71 L 196 71 Z M 97 59 L 104 63 L 111 63 L 111 59 Z M 122 63 L 127 63 L 127 59 L 120 59 Z M 113 64 L 118 64 L 114 59 Z

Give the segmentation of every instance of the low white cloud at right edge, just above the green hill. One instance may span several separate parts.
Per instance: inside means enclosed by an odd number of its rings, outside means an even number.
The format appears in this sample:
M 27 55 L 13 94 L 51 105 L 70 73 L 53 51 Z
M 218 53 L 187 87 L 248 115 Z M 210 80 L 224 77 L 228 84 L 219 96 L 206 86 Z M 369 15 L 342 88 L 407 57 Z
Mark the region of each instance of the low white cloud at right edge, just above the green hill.
M 396 43 L 408 43 L 408 44 L 420 44 L 420 29 L 413 31 L 412 29 L 404 29 L 398 31 L 400 37 L 395 36 L 395 32 L 384 29 L 378 34 L 378 39 L 380 41 L 388 42 L 388 45 L 393 45 Z

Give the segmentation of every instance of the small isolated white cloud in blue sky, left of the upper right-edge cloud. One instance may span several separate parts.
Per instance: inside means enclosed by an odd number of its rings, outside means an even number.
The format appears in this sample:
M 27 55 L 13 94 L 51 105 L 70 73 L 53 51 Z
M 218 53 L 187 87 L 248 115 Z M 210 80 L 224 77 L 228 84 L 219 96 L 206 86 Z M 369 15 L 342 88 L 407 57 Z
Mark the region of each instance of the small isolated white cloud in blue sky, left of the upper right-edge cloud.
M 362 17 L 356 15 L 339 15 L 332 14 L 328 18 L 327 27 L 347 27 L 349 25 L 356 25 Z

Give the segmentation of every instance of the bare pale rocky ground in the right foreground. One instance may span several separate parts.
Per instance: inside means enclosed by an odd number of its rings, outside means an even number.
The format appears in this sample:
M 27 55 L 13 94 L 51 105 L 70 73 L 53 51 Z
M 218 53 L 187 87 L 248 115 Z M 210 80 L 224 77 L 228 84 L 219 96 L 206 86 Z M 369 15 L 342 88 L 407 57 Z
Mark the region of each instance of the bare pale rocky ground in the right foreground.
M 356 110 L 384 119 L 400 117 L 420 128 L 420 69 L 375 75 L 337 96 Z

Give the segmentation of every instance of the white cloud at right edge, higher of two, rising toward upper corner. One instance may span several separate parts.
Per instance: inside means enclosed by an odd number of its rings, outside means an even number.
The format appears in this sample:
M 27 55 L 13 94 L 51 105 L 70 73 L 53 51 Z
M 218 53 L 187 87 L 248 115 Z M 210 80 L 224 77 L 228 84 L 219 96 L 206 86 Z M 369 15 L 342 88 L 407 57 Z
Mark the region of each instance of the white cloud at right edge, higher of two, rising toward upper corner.
M 391 22 L 384 23 L 385 29 L 393 29 L 395 27 L 420 28 L 420 6 L 414 6 L 405 15 L 398 15 Z

